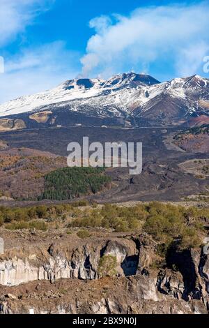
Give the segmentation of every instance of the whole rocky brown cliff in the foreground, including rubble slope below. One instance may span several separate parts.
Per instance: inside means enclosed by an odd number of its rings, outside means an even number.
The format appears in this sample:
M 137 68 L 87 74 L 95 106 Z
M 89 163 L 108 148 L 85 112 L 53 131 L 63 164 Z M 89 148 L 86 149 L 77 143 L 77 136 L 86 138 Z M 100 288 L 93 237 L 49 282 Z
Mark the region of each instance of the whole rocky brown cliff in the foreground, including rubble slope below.
M 109 255 L 114 277 L 101 278 L 100 259 Z M 0 258 L 0 311 L 208 313 L 208 255 L 173 251 L 164 269 L 154 268 L 155 258 L 152 243 L 130 236 L 8 249 Z

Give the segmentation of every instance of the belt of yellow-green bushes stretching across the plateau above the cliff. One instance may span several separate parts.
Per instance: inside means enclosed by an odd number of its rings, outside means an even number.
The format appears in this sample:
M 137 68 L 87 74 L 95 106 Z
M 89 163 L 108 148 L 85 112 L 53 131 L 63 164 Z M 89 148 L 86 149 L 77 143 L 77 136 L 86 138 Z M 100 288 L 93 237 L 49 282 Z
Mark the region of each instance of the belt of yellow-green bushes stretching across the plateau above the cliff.
M 88 206 L 79 209 L 86 205 L 88 205 L 86 200 L 80 200 L 71 204 L 38 207 L 1 206 L 0 225 L 5 224 L 11 229 L 24 229 L 33 228 L 35 224 L 35 228 L 45 230 L 45 221 L 63 223 L 71 218 L 68 228 L 105 228 L 114 232 L 134 234 L 144 231 L 162 245 L 162 248 L 158 250 L 159 254 L 165 254 L 173 243 L 179 248 L 199 246 L 201 244 L 199 236 L 203 234 L 204 223 L 209 217 L 208 208 L 185 208 L 160 202 L 139 204 L 133 207 L 105 204 L 101 208 Z

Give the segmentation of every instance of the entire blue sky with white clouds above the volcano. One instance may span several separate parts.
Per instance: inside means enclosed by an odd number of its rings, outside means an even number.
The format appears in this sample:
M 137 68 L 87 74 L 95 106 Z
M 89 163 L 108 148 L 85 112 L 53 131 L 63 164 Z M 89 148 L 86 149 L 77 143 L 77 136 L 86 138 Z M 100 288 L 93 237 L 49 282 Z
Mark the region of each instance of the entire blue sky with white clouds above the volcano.
M 0 103 L 74 77 L 203 73 L 208 1 L 0 0 Z

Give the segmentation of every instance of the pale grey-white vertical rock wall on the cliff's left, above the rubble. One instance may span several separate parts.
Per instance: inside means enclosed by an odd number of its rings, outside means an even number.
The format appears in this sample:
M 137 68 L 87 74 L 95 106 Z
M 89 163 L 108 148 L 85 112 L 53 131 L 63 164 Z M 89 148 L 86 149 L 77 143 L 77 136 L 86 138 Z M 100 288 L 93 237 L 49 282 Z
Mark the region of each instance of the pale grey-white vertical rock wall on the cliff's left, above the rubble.
M 32 251 L 32 250 L 31 250 Z M 49 248 L 33 248 L 21 258 L 4 255 L 0 262 L 0 284 L 15 286 L 30 281 L 61 278 L 98 279 L 102 256 L 116 258 L 116 274 L 130 276 L 137 272 L 139 251 L 131 240 L 93 240 L 80 245 L 52 244 Z

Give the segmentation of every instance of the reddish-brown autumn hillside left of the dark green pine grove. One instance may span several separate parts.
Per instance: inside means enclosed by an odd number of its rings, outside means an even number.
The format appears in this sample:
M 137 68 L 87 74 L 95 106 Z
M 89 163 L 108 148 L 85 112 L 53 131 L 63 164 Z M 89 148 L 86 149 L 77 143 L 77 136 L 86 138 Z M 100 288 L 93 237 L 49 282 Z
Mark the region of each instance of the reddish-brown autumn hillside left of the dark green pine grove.
M 65 158 L 36 149 L 0 151 L 1 199 L 37 200 L 44 191 L 45 174 L 65 165 Z

